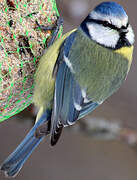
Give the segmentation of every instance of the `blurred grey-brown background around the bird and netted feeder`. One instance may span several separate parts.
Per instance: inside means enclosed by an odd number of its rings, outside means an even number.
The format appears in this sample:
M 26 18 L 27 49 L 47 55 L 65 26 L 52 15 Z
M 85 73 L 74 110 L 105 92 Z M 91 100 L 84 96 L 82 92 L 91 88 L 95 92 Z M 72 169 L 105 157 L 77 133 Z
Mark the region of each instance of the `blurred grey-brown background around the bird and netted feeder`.
M 64 32 L 77 27 L 100 2 L 58 0 L 58 9 L 64 18 Z M 136 35 L 137 1 L 117 2 L 126 9 Z M 75 127 L 65 128 L 54 148 L 49 146 L 48 138 L 45 138 L 15 180 L 137 179 L 136 48 L 135 44 L 133 64 L 120 90 Z M 0 162 L 32 127 L 34 116 L 35 110 L 29 107 L 0 124 Z M 0 180 L 5 179 L 0 173 Z

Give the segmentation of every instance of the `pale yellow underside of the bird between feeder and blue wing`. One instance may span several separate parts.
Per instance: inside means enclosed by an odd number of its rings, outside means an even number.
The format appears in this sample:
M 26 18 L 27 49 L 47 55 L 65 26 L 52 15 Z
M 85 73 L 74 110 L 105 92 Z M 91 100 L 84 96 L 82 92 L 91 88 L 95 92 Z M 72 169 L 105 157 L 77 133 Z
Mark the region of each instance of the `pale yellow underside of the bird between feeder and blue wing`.
M 36 106 L 46 108 L 53 100 L 55 80 L 53 69 L 63 41 L 76 29 L 58 39 L 41 57 L 36 74 L 33 102 Z

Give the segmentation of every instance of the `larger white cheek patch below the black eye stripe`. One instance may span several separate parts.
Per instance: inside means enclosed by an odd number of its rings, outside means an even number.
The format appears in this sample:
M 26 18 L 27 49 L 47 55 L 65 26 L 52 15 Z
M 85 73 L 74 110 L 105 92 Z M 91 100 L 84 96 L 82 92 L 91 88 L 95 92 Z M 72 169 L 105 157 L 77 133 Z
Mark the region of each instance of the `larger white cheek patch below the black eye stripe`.
M 119 40 L 117 31 L 98 24 L 87 24 L 87 27 L 94 41 L 106 47 L 115 48 Z

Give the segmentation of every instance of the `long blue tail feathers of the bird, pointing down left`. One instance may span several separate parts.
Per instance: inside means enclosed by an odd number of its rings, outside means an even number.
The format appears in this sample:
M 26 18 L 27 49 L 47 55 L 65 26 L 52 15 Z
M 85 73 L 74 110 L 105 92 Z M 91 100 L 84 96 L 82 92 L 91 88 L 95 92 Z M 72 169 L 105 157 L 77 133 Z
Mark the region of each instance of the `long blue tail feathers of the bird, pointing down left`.
M 17 175 L 23 164 L 29 158 L 34 149 L 40 144 L 44 137 L 36 138 L 34 136 L 36 128 L 46 122 L 50 118 L 50 111 L 43 113 L 39 121 L 29 131 L 21 144 L 15 149 L 15 151 L 8 156 L 3 162 L 0 169 L 5 172 L 6 176 L 14 177 Z

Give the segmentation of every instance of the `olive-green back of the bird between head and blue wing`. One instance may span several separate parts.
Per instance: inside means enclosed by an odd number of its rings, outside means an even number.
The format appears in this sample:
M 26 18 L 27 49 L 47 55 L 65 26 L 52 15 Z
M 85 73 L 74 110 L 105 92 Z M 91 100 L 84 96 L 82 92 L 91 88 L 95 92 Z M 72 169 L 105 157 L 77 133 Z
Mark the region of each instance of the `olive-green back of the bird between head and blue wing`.
M 102 102 L 112 95 L 125 80 L 128 61 L 118 53 L 108 50 L 93 41 L 75 47 L 69 59 L 74 69 L 74 77 L 92 101 Z M 83 44 L 83 45 L 82 45 Z

